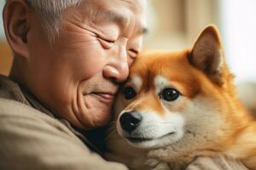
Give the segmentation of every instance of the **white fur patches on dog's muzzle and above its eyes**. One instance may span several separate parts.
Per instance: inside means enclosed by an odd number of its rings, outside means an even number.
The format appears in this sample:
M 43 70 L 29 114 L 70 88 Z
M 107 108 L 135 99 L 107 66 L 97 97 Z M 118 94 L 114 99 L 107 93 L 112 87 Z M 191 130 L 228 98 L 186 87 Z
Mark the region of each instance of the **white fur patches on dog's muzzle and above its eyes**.
M 141 77 L 135 75 L 131 77 L 130 86 L 132 86 L 137 93 L 141 90 L 143 85 L 143 80 Z M 157 76 L 154 78 L 154 94 L 159 95 L 160 91 L 166 87 L 170 87 L 170 82 L 162 76 Z M 122 94 L 120 94 L 122 95 Z M 147 98 L 147 96 L 142 97 L 142 99 L 137 99 L 138 105 L 139 103 L 143 103 L 143 98 Z M 183 98 L 180 96 L 179 98 Z M 182 99 L 177 100 L 182 100 Z M 124 98 L 119 96 L 117 101 L 122 101 Z M 128 102 L 128 103 L 127 103 Z M 139 110 L 139 114 L 143 117 L 143 121 L 140 125 L 131 133 L 127 133 L 120 126 L 119 118 L 123 115 L 123 113 L 127 111 L 135 110 L 136 108 L 129 108 L 129 101 L 125 101 L 126 105 L 118 103 L 117 105 L 123 105 L 124 107 L 128 106 L 127 109 L 117 111 L 119 115 L 117 118 L 117 131 L 119 135 L 127 140 L 127 142 L 135 147 L 140 148 L 154 148 L 160 147 L 167 144 L 172 144 L 177 142 L 179 139 L 183 137 L 183 125 L 184 118 L 177 111 L 168 110 L 168 105 L 166 101 L 161 101 L 161 107 L 164 110 L 164 113 L 160 114 L 154 109 L 145 108 Z M 175 102 L 175 101 L 174 101 Z M 124 108 L 123 107 L 123 108 Z M 132 139 L 145 139 L 143 141 L 135 141 Z

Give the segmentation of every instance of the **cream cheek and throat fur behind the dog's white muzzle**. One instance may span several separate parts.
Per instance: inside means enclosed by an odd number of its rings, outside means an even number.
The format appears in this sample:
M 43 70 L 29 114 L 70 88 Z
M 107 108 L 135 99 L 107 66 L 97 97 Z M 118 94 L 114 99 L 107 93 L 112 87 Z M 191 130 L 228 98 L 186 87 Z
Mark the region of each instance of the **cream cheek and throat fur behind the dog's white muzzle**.
M 224 122 L 217 104 L 212 103 L 211 99 L 201 96 L 186 102 L 186 108 L 180 113 L 185 121 L 183 138 L 165 148 L 149 151 L 148 156 L 168 162 L 185 161 L 185 156 L 192 156 L 193 150 L 207 149 L 218 143 L 224 133 L 220 128 Z

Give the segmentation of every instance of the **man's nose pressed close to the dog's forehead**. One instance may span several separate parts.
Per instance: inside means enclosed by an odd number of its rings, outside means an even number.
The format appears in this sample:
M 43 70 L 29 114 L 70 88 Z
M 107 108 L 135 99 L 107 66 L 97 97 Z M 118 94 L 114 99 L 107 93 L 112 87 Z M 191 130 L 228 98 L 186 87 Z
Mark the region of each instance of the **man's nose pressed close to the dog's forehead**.
M 124 82 L 129 75 L 129 65 L 125 47 L 119 47 L 115 56 L 111 56 L 108 65 L 103 69 L 104 77 L 117 82 Z

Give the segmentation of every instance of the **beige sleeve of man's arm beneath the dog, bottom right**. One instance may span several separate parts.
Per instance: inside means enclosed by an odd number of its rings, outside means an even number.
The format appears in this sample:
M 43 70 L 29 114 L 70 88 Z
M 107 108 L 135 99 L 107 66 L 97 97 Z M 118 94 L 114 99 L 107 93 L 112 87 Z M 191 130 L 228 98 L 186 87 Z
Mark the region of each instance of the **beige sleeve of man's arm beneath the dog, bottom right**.
M 186 170 L 248 170 L 240 161 L 225 157 L 198 157 Z

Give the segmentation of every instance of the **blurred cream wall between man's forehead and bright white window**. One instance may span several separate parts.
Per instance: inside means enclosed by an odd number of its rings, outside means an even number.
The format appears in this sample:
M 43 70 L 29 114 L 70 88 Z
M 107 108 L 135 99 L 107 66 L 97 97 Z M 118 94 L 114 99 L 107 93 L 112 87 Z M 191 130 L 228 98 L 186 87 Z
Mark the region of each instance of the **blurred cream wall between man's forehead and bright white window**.
M 177 50 L 195 42 L 204 27 L 218 27 L 218 0 L 148 0 L 149 34 L 144 48 Z

